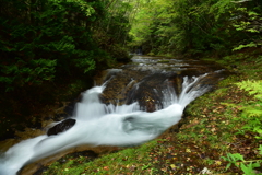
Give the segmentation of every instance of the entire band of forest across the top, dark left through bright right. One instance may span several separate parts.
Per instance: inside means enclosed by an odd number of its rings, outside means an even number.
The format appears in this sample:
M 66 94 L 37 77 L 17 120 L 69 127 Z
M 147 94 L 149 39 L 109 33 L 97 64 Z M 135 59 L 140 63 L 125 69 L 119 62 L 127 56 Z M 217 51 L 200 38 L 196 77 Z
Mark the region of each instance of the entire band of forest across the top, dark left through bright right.
M 1 0 L 1 91 L 150 55 L 225 56 L 261 47 L 260 0 Z

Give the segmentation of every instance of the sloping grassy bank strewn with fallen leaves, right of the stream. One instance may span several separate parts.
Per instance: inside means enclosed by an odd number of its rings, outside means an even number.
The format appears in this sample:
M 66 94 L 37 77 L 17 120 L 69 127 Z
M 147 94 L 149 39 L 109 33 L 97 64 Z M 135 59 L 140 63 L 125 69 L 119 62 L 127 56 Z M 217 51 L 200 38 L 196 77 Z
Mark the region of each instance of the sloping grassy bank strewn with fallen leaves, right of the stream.
M 154 141 L 94 161 L 84 155 L 67 156 L 43 174 L 261 174 L 260 54 L 235 54 L 216 60 L 231 75 L 187 107 L 180 128 L 174 126 Z

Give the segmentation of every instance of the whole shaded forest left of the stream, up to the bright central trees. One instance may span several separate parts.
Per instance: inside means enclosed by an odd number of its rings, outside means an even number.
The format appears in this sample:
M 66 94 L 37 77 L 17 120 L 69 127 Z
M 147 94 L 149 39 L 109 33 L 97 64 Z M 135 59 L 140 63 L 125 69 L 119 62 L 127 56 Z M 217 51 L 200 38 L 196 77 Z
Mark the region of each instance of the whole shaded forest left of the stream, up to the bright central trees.
M 129 60 L 128 2 L 0 2 L 2 117 L 28 117 L 60 101 L 61 94 L 75 97 L 93 85 L 97 71 Z

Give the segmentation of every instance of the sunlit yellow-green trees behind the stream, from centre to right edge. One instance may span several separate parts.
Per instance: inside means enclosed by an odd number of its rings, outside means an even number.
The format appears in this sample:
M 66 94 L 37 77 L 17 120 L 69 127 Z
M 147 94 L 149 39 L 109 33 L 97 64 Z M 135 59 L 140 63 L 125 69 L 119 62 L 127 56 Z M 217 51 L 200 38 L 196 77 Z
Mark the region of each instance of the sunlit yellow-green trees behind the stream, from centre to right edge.
M 141 1 L 129 45 L 152 55 L 222 57 L 261 46 L 261 11 L 260 0 Z

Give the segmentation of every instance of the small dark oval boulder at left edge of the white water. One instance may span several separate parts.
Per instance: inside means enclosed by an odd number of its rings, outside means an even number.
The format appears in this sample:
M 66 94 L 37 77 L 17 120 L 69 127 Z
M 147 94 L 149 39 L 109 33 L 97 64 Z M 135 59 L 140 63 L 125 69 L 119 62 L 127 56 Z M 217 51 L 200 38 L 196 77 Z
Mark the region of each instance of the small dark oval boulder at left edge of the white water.
M 67 130 L 69 130 L 70 128 L 72 128 L 75 124 L 75 119 L 69 118 L 69 119 L 64 119 L 63 121 L 55 125 L 53 127 L 51 127 L 50 129 L 48 129 L 47 131 L 47 136 L 52 136 L 52 135 L 58 135 L 60 132 L 64 132 Z

